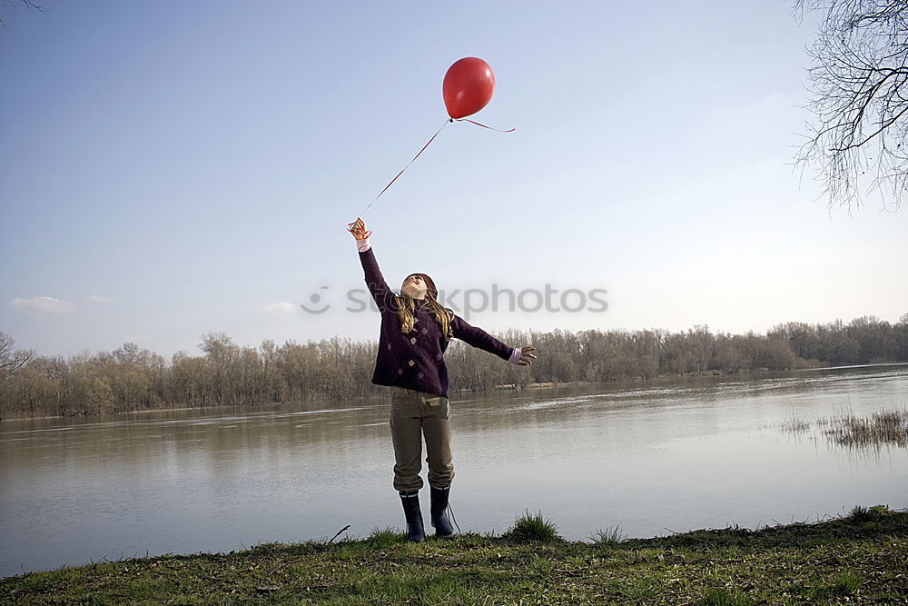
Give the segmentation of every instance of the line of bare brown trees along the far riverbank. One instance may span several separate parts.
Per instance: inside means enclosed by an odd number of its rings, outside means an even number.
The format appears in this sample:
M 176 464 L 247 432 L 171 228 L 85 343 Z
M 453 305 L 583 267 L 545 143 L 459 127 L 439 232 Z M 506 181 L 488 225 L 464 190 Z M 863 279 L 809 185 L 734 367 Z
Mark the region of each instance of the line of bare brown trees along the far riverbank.
M 495 334 L 530 343 L 530 366 L 494 361 L 458 340 L 445 361 L 449 392 L 515 388 L 534 382 L 617 382 L 701 373 L 784 371 L 843 364 L 908 361 L 908 313 L 890 324 L 875 316 L 850 323 L 782 323 L 764 334 L 711 333 L 706 325 L 666 330 L 509 330 Z M 0 418 L 345 400 L 385 394 L 371 383 L 375 341 L 333 337 L 318 343 L 233 343 L 206 333 L 202 355 L 162 355 L 124 343 L 113 352 L 43 356 L 15 350 L 0 333 Z

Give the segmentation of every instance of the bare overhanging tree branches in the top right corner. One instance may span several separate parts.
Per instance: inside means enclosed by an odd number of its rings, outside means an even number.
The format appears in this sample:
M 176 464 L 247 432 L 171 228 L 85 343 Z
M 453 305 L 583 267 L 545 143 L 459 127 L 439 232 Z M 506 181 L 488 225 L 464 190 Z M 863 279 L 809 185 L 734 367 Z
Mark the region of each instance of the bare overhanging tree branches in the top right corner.
M 795 154 L 814 164 L 828 205 L 862 204 L 861 188 L 894 209 L 908 186 L 908 3 L 898 0 L 795 0 L 795 18 L 822 11 L 807 86 L 806 142 Z

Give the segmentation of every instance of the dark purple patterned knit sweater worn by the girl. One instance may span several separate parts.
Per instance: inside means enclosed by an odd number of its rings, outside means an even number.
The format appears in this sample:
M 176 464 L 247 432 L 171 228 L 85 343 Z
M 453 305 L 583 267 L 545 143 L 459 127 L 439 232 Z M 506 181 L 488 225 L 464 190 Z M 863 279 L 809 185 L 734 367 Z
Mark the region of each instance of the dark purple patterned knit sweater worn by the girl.
M 375 359 L 372 382 L 376 385 L 406 387 L 419 392 L 448 397 L 448 367 L 444 353 L 448 342 L 441 335 L 435 314 L 416 299 L 416 323 L 410 333 L 400 331 L 400 320 L 394 305 L 394 293 L 385 282 L 375 261 L 369 240 L 358 240 L 360 263 L 366 284 L 381 313 L 379 353 Z M 459 315 L 451 323 L 454 336 L 473 347 L 494 353 L 502 360 L 518 363 L 520 349 L 508 347 L 481 328 L 470 326 Z

